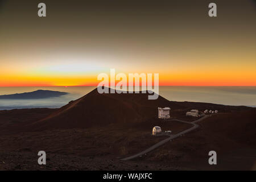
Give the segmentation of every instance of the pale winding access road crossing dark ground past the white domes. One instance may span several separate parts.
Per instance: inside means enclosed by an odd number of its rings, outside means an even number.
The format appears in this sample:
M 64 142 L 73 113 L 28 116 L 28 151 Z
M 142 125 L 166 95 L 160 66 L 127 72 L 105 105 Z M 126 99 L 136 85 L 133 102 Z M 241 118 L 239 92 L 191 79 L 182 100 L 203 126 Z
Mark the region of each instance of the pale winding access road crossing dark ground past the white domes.
M 168 121 L 179 121 L 179 122 L 183 122 L 183 123 L 188 123 L 188 124 L 193 125 L 193 126 L 191 128 L 189 128 L 189 129 L 187 129 L 187 130 L 181 131 L 180 133 L 171 135 L 170 137 L 168 137 L 168 138 L 166 138 L 166 139 L 164 139 L 164 140 L 154 144 L 154 146 L 151 146 L 151 147 L 147 148 L 146 150 L 144 150 L 142 152 L 139 152 L 138 154 L 129 156 L 127 158 L 123 158 L 121 160 L 130 160 L 130 159 L 137 158 L 138 156 L 144 155 L 144 154 L 154 150 L 155 148 L 158 148 L 159 146 L 162 146 L 162 144 L 164 144 L 164 143 L 166 143 L 166 142 L 168 142 L 168 141 L 170 141 L 172 139 L 175 139 L 175 138 L 179 137 L 180 135 L 183 135 L 185 133 L 188 133 L 189 131 L 195 130 L 195 129 L 197 129 L 197 127 L 199 127 L 199 125 L 197 125 L 196 123 L 202 121 L 205 118 L 208 118 L 209 116 L 210 115 L 204 115 L 203 117 L 201 117 L 201 118 L 199 118 L 199 119 L 197 119 L 196 121 L 193 121 L 193 122 L 182 121 L 180 119 L 170 119 Z

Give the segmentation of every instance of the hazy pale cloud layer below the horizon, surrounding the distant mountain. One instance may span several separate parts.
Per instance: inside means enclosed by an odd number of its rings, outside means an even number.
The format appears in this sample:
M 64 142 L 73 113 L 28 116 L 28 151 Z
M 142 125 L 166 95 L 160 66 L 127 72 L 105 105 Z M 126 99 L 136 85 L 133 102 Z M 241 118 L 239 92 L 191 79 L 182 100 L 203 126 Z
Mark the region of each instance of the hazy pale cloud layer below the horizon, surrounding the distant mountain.
M 36 100 L 0 100 L 0 110 L 34 107 L 57 108 L 92 91 L 96 86 L 0 87 L 0 95 L 55 90 L 68 92 L 60 97 Z M 159 94 L 170 101 L 209 102 L 256 107 L 256 86 L 160 86 Z

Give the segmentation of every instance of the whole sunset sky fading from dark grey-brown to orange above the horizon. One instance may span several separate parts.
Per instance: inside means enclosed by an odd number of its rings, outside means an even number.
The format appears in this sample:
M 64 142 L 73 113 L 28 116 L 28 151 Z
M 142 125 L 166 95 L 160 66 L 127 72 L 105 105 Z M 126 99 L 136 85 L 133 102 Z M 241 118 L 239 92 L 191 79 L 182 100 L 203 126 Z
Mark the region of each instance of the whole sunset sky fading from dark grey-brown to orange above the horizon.
M 159 73 L 160 85 L 256 86 L 255 1 L 0 0 L 0 86 L 97 85 L 110 68 Z

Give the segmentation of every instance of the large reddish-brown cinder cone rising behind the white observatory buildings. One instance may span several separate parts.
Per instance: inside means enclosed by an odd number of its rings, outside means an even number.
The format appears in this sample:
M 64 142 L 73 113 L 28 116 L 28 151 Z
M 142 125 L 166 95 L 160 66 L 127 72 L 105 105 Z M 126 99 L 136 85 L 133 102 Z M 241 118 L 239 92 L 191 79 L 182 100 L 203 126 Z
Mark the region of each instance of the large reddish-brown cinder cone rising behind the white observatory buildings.
M 47 118 L 26 127 L 29 131 L 39 131 L 106 126 L 111 123 L 132 124 L 155 118 L 158 106 L 183 108 L 161 96 L 158 100 L 148 100 L 147 94 L 99 94 L 97 89 L 94 89 L 84 97 L 69 102 Z

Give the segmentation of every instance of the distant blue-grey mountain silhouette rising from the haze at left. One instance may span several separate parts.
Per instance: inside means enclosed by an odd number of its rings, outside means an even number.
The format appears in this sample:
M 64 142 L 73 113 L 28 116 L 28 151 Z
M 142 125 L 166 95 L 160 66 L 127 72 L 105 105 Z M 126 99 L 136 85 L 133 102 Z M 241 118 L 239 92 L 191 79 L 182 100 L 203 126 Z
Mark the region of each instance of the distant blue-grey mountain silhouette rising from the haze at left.
M 49 97 L 59 97 L 68 94 L 67 92 L 59 92 L 52 90 L 36 90 L 34 92 L 15 93 L 2 95 L 0 99 L 40 99 Z

